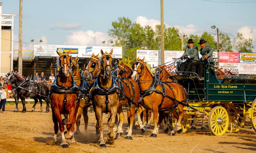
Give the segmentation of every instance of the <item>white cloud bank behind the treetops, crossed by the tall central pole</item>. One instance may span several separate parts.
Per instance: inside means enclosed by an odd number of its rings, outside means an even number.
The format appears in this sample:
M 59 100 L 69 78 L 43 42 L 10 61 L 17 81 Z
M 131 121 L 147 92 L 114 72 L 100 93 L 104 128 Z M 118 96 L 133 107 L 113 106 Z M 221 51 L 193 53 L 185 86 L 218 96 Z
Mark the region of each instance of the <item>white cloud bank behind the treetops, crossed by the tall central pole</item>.
M 160 25 L 161 24 L 161 21 L 159 20 L 156 20 L 156 19 L 147 19 L 146 17 L 143 17 L 143 16 L 138 16 L 136 19 L 135 19 L 135 22 L 136 23 L 140 23 L 140 25 L 142 27 L 145 27 L 145 26 L 151 26 L 153 29 L 155 29 L 156 25 Z M 168 28 L 168 27 L 171 27 L 170 25 L 166 24 L 165 23 L 165 26 Z M 184 33 L 184 34 L 195 34 L 196 31 L 197 31 L 197 28 L 193 25 L 193 24 L 189 24 L 187 26 L 173 26 L 175 28 L 178 28 L 180 30 L 181 33 Z

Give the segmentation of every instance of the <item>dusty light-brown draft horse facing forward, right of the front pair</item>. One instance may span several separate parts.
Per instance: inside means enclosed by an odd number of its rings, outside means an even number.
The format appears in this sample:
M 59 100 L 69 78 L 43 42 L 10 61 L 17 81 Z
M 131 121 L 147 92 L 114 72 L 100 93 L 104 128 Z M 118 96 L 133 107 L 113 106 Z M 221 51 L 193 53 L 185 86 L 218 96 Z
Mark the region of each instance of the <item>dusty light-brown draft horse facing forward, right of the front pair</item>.
M 92 97 L 92 105 L 95 111 L 95 116 L 97 121 L 99 122 L 100 128 L 100 140 L 98 142 L 99 146 L 102 148 L 106 148 L 106 144 L 104 142 L 104 125 L 102 120 L 103 113 L 110 113 L 108 118 L 108 141 L 111 142 L 113 139 L 117 139 L 117 134 L 114 132 L 115 126 L 115 118 L 117 114 L 117 110 L 119 108 L 119 93 L 118 86 L 116 85 L 116 81 L 112 77 L 112 67 L 113 67 L 113 58 L 111 54 L 113 53 L 113 49 L 110 53 L 101 52 L 100 58 L 100 74 L 97 79 L 94 81 L 94 84 L 90 90 L 90 97 Z

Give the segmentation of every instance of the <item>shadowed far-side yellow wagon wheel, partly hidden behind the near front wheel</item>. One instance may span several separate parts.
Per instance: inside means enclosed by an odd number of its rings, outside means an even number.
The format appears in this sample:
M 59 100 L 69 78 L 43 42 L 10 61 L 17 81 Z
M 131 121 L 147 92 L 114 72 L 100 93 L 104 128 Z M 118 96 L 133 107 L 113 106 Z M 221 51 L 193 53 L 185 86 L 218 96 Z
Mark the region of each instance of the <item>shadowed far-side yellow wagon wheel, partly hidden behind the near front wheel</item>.
M 227 132 L 229 133 L 238 132 L 244 126 L 246 114 L 244 114 L 243 111 L 239 112 L 240 109 L 234 106 L 227 105 L 226 109 L 228 111 L 228 119 L 229 119 Z

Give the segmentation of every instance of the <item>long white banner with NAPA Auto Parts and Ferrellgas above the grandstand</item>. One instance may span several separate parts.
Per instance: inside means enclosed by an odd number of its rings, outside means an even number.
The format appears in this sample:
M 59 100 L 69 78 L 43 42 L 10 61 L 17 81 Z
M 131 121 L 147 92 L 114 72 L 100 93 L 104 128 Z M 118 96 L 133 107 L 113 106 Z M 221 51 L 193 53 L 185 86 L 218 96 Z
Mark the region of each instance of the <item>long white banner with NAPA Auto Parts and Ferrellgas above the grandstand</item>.
M 71 49 L 71 54 L 78 57 L 88 58 L 94 55 L 100 54 L 100 50 L 103 52 L 110 52 L 113 49 L 113 58 L 122 58 L 122 47 L 109 47 L 109 46 L 72 46 L 72 45 L 34 45 L 34 56 L 38 57 L 58 57 L 56 50 L 59 52 L 67 52 Z M 74 57 L 73 55 L 73 57 Z

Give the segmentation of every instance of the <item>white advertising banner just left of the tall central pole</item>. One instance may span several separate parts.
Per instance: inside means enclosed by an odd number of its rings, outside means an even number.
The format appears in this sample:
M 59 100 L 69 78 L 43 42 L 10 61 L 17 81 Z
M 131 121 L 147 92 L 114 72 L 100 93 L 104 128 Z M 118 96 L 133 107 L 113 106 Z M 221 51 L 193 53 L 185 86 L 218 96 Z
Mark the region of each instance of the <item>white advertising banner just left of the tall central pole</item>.
M 144 58 L 145 62 L 148 62 L 149 67 L 155 67 L 158 65 L 158 50 L 137 50 L 137 58 Z

